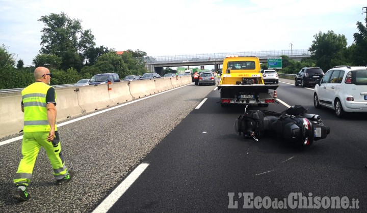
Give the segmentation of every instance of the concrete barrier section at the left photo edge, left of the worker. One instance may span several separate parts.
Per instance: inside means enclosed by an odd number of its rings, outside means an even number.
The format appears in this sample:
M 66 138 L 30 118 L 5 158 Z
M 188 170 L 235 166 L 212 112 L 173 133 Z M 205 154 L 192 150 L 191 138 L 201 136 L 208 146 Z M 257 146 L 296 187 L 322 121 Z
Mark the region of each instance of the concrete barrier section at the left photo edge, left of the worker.
M 21 92 L 0 94 L 0 138 L 23 130 Z

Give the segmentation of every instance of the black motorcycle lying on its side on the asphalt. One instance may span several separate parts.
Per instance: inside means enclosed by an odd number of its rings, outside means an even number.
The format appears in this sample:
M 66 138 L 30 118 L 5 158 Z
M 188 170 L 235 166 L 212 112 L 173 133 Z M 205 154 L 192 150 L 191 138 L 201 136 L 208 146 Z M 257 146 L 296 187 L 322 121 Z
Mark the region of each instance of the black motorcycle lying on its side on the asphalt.
M 323 124 L 317 114 L 307 114 L 307 109 L 295 105 L 283 112 L 267 110 L 248 110 L 234 121 L 235 131 L 245 138 L 258 141 L 265 134 L 275 133 L 278 139 L 308 146 L 320 139 L 325 139 L 330 128 Z

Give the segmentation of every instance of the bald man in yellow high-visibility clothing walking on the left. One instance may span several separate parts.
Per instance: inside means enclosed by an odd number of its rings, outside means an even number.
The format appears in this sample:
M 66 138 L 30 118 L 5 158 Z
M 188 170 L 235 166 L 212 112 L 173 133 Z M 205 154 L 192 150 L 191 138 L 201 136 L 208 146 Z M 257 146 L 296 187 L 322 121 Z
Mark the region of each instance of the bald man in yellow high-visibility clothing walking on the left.
M 13 198 L 19 201 L 30 199 L 27 187 L 31 182 L 33 167 L 41 146 L 54 170 L 56 184 L 68 182 L 73 172 L 67 170 L 61 153 L 60 138 L 56 125 L 56 93 L 49 86 L 52 74 L 47 68 L 34 71 L 36 82 L 25 87 L 22 94 L 21 110 L 24 112 L 22 156 L 14 176 L 17 186 Z

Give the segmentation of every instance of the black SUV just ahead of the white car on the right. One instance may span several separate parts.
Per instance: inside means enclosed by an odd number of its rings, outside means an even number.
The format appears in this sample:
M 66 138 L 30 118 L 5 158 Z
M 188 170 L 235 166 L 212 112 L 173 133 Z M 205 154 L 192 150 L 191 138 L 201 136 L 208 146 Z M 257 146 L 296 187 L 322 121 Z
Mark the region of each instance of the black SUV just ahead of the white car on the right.
M 324 77 L 324 71 L 320 67 L 304 67 L 295 77 L 295 85 L 302 87 L 315 85 L 316 80 Z

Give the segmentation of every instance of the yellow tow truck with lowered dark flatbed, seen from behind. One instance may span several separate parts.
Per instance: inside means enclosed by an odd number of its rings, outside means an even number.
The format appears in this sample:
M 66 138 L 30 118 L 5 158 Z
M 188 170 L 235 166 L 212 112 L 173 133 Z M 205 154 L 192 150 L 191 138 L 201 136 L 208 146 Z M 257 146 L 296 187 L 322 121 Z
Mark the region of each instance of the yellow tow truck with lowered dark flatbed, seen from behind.
M 269 106 L 275 103 L 279 84 L 265 84 L 260 60 L 255 56 L 227 56 L 223 60 L 220 89 L 221 105 Z

